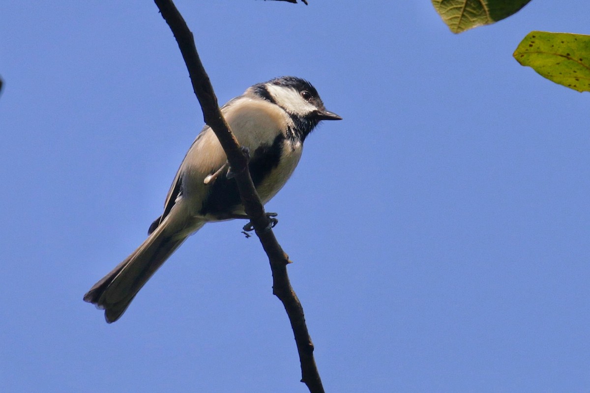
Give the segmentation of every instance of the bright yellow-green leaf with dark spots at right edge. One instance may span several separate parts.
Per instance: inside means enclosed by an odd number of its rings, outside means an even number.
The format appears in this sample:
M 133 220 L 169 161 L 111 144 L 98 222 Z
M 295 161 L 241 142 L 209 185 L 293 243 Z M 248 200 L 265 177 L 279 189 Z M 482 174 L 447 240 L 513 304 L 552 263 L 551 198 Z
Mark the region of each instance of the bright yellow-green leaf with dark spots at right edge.
M 513 56 L 550 81 L 590 91 L 590 35 L 532 31 Z

